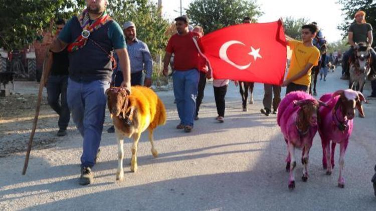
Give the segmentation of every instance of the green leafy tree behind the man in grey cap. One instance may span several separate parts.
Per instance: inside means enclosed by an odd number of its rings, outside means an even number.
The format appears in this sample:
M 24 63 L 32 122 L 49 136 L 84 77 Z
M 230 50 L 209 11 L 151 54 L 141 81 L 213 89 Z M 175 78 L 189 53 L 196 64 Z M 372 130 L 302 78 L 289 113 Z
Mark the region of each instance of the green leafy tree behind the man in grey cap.
M 164 51 L 169 23 L 159 15 L 160 9 L 155 3 L 150 0 L 109 0 L 107 11 L 120 25 L 128 20 L 134 22 L 137 38 L 147 44 L 154 57 Z

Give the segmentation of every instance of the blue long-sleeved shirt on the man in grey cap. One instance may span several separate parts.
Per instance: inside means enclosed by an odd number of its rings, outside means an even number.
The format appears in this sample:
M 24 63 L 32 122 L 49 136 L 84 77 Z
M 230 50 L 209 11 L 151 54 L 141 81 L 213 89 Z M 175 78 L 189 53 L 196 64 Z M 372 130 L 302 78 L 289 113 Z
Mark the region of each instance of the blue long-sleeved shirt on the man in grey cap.
M 151 78 L 153 71 L 153 59 L 151 58 L 149 48 L 147 45 L 139 40 L 135 39 L 132 44 L 127 43 L 127 50 L 130 60 L 130 72 L 135 73 L 142 70 L 146 70 L 145 77 Z M 119 60 L 117 54 L 115 55 L 116 61 Z M 117 62 L 116 72 L 120 73 L 120 63 Z

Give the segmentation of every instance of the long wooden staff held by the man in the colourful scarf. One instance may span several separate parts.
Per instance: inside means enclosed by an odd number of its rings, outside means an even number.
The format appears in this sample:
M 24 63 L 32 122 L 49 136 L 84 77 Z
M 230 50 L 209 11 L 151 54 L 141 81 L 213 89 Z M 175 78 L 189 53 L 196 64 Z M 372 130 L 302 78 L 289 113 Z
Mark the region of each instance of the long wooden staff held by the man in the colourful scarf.
M 54 19 L 51 19 L 50 27 L 49 27 L 50 33 L 52 33 L 52 27 L 53 26 L 54 26 Z M 24 164 L 24 169 L 22 170 L 22 175 L 25 175 L 26 170 L 28 169 L 30 151 L 31 151 L 31 148 L 32 148 L 32 145 L 33 145 L 34 133 L 35 133 L 35 130 L 37 128 L 39 110 L 41 108 L 41 101 L 42 101 L 42 92 L 43 92 L 43 86 L 44 86 L 44 79 L 45 79 L 45 72 L 46 72 L 45 68 L 46 68 L 47 57 L 48 57 L 48 49 L 46 50 L 45 59 L 43 61 L 42 76 L 41 76 L 41 82 L 39 83 L 38 101 L 37 101 L 37 107 L 35 108 L 33 129 L 32 129 L 32 132 L 30 134 L 29 145 L 28 145 L 28 150 L 26 151 L 25 164 Z

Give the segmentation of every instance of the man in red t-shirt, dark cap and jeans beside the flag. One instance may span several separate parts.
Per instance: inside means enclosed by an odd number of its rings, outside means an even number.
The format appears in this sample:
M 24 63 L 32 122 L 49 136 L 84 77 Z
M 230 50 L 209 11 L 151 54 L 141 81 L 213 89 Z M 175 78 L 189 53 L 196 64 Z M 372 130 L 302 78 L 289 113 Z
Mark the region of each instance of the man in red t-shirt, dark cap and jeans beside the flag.
M 168 64 L 173 57 L 173 92 L 176 98 L 177 113 L 180 123 L 177 129 L 191 132 L 196 113 L 196 98 L 200 74 L 198 65 L 200 62 L 199 51 L 193 41 L 194 33 L 188 29 L 189 19 L 186 16 L 175 18 L 176 31 L 170 37 L 163 59 L 163 74 L 168 74 Z

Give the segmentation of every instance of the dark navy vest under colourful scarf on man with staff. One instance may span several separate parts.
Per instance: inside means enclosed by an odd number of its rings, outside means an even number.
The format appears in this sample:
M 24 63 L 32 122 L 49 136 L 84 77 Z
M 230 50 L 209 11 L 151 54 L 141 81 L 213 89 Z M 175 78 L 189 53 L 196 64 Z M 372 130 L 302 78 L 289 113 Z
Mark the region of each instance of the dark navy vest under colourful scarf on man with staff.
M 108 38 L 108 28 L 113 20 L 108 21 L 99 29 L 90 33 L 89 39 L 94 40 L 102 48 L 91 40 L 81 49 L 69 53 L 69 77 L 75 81 L 107 80 L 111 81 L 112 62 L 108 53 L 112 54 L 113 44 Z M 73 17 L 71 25 L 72 40 L 81 35 L 82 28 L 77 17 Z

